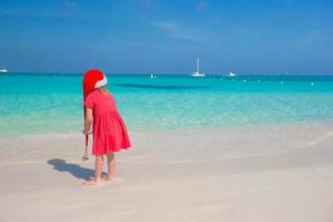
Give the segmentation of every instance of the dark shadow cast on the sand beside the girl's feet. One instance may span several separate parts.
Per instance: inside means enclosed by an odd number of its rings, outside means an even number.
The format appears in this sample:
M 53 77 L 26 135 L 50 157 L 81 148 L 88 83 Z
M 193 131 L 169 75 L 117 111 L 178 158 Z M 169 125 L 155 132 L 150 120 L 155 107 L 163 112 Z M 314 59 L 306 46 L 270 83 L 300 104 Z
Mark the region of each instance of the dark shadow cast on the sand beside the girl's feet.
M 54 170 L 58 170 L 59 172 L 69 172 L 70 174 L 72 174 L 73 176 L 75 176 L 78 179 L 88 180 L 88 179 L 94 176 L 94 170 L 88 169 L 88 168 L 82 168 L 79 164 L 67 163 L 62 159 L 52 159 L 52 160 L 49 160 L 48 163 L 50 165 L 53 165 Z M 105 173 L 103 172 L 103 176 L 104 175 L 105 175 Z

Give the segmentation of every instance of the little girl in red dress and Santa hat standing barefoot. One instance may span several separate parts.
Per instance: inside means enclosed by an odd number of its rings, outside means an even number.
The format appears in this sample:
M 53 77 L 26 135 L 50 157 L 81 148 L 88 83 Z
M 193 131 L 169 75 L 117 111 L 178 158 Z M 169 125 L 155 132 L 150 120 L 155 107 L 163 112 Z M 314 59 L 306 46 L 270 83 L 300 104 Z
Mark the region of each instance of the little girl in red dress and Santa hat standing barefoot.
M 114 152 L 131 147 L 125 124 L 117 110 L 113 95 L 107 90 L 107 78 L 99 70 L 89 70 L 83 78 L 84 90 L 84 130 L 90 133 L 93 122 L 92 154 L 95 155 L 94 178 L 84 185 L 100 184 L 103 170 L 103 155 L 108 158 L 108 175 L 103 180 L 112 181 L 115 176 Z

